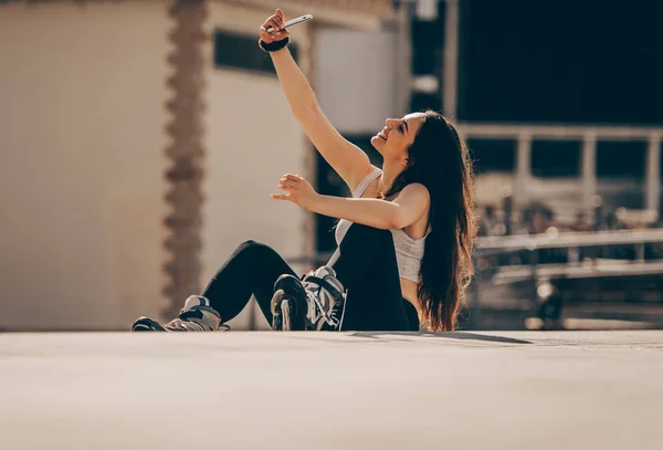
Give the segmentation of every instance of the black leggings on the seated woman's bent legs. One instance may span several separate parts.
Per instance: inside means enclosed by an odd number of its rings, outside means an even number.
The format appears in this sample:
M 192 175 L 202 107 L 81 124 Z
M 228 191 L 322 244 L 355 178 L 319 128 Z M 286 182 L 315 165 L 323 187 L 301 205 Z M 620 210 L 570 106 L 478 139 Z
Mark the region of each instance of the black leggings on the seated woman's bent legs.
M 348 290 L 343 331 L 419 331 L 417 310 L 401 294 L 393 239 L 389 230 L 354 223 L 328 265 Z M 235 317 L 255 296 L 272 323 L 274 283 L 295 275 L 272 248 L 242 243 L 202 293 L 223 322 Z

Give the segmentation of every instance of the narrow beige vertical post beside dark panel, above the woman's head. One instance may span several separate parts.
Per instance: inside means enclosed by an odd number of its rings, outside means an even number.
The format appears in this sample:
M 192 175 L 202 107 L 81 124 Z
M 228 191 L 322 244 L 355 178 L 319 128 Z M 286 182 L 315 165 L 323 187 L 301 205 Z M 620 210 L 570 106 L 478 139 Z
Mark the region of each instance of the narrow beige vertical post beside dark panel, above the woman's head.
M 446 0 L 446 12 L 444 19 L 444 61 L 442 83 L 443 114 L 450 118 L 456 118 L 457 114 L 457 90 L 459 90 L 459 0 Z

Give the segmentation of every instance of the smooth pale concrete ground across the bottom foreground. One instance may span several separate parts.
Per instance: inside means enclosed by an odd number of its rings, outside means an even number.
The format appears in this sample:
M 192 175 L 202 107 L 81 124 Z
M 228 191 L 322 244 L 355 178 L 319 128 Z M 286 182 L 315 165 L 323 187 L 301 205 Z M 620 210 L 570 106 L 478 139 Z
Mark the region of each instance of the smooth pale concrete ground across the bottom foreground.
M 663 332 L 0 334 L 0 448 L 662 449 Z

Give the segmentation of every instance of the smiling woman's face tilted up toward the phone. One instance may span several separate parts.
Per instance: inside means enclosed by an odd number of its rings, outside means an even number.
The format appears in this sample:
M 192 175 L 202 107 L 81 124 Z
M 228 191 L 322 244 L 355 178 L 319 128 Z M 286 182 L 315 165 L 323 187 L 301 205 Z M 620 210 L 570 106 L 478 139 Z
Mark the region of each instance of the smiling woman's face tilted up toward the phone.
M 385 128 L 370 139 L 370 144 L 385 159 L 407 165 L 408 149 L 425 121 L 424 113 L 408 114 L 403 118 L 388 118 Z

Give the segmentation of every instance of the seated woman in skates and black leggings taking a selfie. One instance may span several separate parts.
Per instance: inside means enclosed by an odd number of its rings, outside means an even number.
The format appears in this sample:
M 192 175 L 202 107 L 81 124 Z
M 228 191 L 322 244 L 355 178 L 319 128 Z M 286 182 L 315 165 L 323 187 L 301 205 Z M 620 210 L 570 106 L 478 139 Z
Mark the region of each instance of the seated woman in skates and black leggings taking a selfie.
M 284 22 L 276 10 L 260 28 L 259 44 L 272 57 L 294 116 L 352 192 L 352 198 L 323 196 L 301 176 L 287 174 L 278 184 L 286 193 L 271 196 L 340 219 L 335 255 L 303 282 L 309 325 L 319 329 L 316 325 L 326 321 L 327 329 L 453 331 L 472 272 L 475 231 L 466 146 L 442 115 L 408 114 L 388 118 L 372 137 L 383 157 L 381 169 L 372 166 L 320 111 L 287 49 Z M 274 250 L 244 242 L 202 295 L 186 301 L 178 318 L 164 326 L 141 317 L 134 329 L 214 331 L 238 315 L 252 294 L 267 321 L 283 326 L 288 318 L 283 314 L 291 312 L 280 310 L 273 297 L 284 274 L 286 281 L 296 280 Z M 345 295 L 343 311 L 325 310 L 338 293 Z

